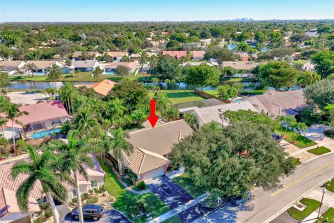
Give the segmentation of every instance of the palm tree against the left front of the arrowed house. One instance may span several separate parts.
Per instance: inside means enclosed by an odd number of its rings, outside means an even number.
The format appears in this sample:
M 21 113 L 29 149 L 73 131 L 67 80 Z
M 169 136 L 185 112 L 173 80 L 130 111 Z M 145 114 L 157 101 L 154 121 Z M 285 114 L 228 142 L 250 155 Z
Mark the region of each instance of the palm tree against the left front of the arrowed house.
M 130 144 L 126 139 L 129 138 L 129 133 L 122 130 L 122 128 L 118 128 L 117 130 L 111 131 L 111 144 L 110 148 L 112 148 L 113 155 L 117 159 L 118 162 L 118 171 L 122 169 L 122 163 L 120 159 L 122 158 L 122 151 L 129 153 L 133 150 L 132 144 Z

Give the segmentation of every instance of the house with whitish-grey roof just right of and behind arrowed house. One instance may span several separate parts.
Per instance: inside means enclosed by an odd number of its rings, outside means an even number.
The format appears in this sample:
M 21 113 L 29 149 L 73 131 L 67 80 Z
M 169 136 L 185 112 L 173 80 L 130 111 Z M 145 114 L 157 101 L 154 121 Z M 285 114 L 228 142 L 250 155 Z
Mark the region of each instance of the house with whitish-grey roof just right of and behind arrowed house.
M 220 114 L 225 111 L 237 112 L 239 110 L 250 110 L 253 112 L 257 112 L 257 109 L 252 104 L 250 104 L 250 102 L 247 101 L 195 108 L 192 110 L 188 110 L 187 112 L 191 112 L 192 114 L 195 115 L 197 128 L 199 129 L 202 125 L 210 123 L 212 121 L 216 121 L 217 123 L 222 123 L 222 125 L 224 126 L 228 125 L 228 123 L 226 123 L 221 119 Z

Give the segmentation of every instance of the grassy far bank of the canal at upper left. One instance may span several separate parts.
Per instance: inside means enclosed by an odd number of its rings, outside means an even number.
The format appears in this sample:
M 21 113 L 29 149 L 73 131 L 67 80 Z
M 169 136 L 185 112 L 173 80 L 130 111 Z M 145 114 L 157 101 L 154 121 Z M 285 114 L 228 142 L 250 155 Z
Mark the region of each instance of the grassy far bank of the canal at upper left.
M 142 77 L 142 75 L 137 75 L 136 77 L 129 75 L 125 76 L 124 78 L 128 79 L 138 79 Z M 122 77 L 118 75 L 101 75 L 99 78 L 95 79 L 92 77 L 92 72 L 80 72 L 79 74 L 63 74 L 61 79 L 58 82 L 100 82 L 103 79 L 111 79 L 114 82 L 119 82 Z M 52 79 L 47 77 L 47 75 L 43 76 L 13 76 L 10 79 L 11 81 L 15 82 L 53 82 Z

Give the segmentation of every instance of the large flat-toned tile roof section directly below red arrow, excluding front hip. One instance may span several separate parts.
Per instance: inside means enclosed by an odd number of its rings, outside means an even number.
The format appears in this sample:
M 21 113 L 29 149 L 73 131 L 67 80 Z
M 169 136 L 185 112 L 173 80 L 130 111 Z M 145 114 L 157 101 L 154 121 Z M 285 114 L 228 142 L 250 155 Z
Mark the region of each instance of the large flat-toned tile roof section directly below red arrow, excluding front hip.
M 129 132 L 129 141 L 134 148 L 143 148 L 160 155 L 172 151 L 173 144 L 193 133 L 193 129 L 183 120 L 172 121 L 154 128 L 143 128 Z

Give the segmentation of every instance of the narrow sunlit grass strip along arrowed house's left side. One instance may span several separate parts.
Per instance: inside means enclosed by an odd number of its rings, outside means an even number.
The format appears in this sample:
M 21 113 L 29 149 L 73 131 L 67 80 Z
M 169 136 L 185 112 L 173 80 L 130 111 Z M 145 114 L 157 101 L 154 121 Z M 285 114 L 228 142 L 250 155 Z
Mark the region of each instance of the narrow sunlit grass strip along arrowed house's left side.
M 100 157 L 98 157 L 97 160 L 100 162 L 103 171 L 106 172 L 104 185 L 108 194 L 118 199 L 118 197 L 120 197 L 120 194 L 122 194 L 122 190 L 124 189 L 123 185 L 120 183 L 120 181 L 118 181 L 118 178 L 113 173 L 113 170 L 111 169 L 109 163 L 106 162 L 104 164 Z

